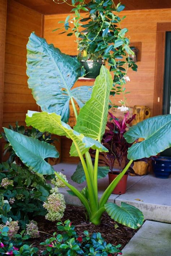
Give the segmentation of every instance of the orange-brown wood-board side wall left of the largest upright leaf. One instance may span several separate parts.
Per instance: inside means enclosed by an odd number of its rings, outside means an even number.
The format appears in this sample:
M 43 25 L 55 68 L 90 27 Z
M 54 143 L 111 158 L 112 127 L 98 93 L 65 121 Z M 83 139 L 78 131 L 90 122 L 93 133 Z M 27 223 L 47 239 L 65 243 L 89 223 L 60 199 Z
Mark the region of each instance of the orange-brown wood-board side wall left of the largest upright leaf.
M 27 85 L 26 44 L 32 31 L 41 36 L 42 15 L 8 0 L 6 19 L 3 126 L 25 124 L 28 109 L 38 110 Z

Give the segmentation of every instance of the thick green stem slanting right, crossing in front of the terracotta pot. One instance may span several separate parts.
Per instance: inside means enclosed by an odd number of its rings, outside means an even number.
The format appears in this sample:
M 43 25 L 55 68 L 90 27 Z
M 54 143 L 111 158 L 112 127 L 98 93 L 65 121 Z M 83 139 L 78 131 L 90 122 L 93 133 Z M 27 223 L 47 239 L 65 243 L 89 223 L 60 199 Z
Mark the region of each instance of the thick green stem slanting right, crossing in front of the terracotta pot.
M 111 192 L 114 190 L 114 188 L 118 185 L 118 182 L 122 179 L 123 175 L 127 172 L 128 168 L 132 164 L 133 160 L 130 160 L 126 167 L 123 169 L 123 171 L 118 174 L 118 176 L 113 180 L 113 182 L 110 183 L 108 188 L 106 188 L 104 194 L 102 195 L 100 201 L 99 201 L 99 208 L 104 207 L 105 203 L 108 201 L 109 196 L 111 195 Z

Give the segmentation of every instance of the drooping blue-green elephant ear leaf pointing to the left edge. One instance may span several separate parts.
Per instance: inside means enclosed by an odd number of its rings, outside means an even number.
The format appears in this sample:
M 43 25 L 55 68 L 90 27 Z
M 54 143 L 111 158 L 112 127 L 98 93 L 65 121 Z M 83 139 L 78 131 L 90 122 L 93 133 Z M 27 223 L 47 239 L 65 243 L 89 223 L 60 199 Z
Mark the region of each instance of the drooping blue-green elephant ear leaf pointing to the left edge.
M 31 170 L 40 174 L 54 172 L 52 166 L 44 160 L 47 157 L 59 157 L 54 146 L 7 128 L 4 128 L 4 131 L 16 155 Z

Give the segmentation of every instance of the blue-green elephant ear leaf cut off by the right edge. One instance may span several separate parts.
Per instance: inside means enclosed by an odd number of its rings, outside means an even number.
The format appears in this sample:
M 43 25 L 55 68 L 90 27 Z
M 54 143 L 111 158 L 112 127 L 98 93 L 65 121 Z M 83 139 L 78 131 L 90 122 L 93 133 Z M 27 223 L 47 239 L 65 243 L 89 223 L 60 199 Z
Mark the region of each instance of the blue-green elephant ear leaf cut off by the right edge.
M 128 149 L 128 159 L 137 160 L 157 155 L 171 147 L 171 114 L 150 117 L 137 123 L 130 127 L 124 138 L 128 143 L 144 138 Z

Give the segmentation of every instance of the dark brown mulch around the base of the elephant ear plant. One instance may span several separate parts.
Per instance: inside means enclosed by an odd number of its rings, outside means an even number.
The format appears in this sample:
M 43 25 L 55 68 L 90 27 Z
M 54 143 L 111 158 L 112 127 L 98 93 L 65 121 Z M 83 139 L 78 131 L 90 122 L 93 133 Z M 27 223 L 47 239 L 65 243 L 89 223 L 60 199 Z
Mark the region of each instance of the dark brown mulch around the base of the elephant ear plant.
M 113 245 L 121 244 L 121 249 L 130 241 L 137 231 L 118 224 L 112 220 L 107 213 L 103 214 L 101 224 L 96 226 L 89 221 L 86 221 L 84 208 L 73 205 L 67 205 L 62 222 L 68 219 L 72 221 L 78 235 L 82 236 L 84 230 L 88 230 L 90 234 L 93 232 L 100 232 L 107 243 L 111 243 Z M 39 231 L 41 232 L 45 232 L 53 236 L 52 234 L 57 231 L 56 222 L 45 220 L 44 217 L 40 216 L 36 217 L 35 221 L 38 222 Z M 118 224 L 119 226 L 117 229 L 114 227 L 115 224 Z M 44 250 L 44 247 L 40 246 L 39 243 L 44 242 L 47 238 L 51 237 L 50 235 L 41 232 L 39 238 L 30 240 L 33 246 L 39 248 L 39 255 L 41 255 L 41 252 Z

